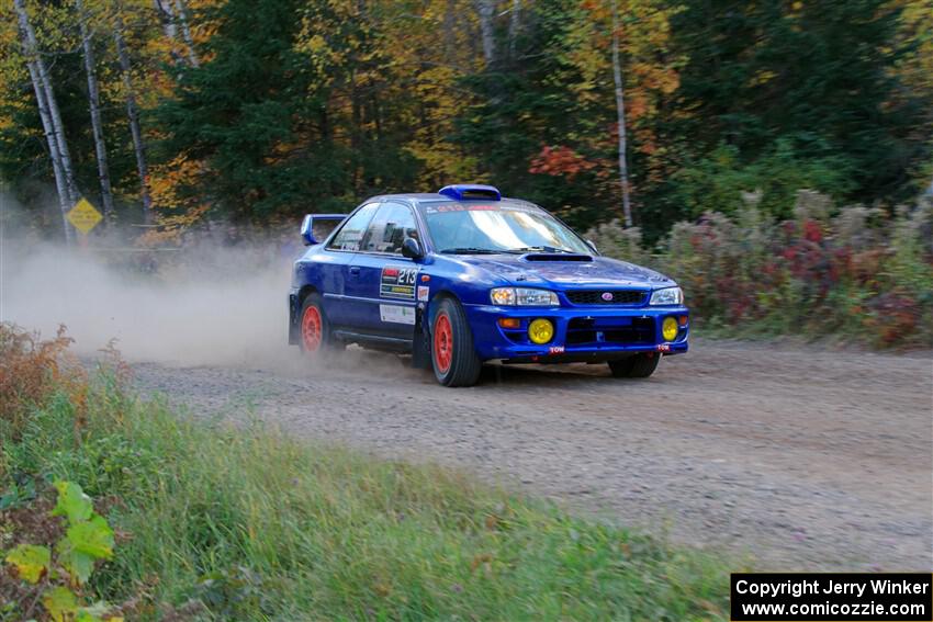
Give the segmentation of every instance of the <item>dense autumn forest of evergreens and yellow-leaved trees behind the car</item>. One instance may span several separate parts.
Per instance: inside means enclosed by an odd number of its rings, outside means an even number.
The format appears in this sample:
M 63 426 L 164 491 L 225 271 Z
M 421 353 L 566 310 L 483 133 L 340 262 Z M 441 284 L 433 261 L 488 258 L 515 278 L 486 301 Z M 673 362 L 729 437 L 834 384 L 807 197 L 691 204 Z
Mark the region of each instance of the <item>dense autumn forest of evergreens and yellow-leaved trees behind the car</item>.
M 930 0 L 4 1 L 0 177 L 56 235 L 486 181 L 657 239 L 933 176 Z

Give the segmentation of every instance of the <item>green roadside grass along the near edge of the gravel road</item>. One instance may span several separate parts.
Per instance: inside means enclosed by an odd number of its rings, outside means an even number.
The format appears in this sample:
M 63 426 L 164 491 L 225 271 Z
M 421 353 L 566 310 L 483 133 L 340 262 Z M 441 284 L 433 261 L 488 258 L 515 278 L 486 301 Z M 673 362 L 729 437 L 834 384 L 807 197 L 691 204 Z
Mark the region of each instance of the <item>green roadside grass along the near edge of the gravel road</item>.
M 52 391 L 15 430 L 0 417 L 0 494 L 82 486 L 117 533 L 82 596 L 132 602 L 127 619 L 727 615 L 728 575 L 709 554 L 448 470 L 196 421 L 117 375 L 91 374 L 83 404 Z M 2 523 L 0 553 L 18 544 Z

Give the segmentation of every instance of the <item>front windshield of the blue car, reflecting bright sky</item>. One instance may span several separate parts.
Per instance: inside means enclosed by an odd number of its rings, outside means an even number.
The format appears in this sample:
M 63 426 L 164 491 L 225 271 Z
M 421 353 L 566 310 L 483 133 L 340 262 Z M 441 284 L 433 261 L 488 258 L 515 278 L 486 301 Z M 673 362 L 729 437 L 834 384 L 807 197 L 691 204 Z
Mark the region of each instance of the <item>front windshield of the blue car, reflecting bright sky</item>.
M 527 203 L 428 205 L 425 218 L 437 252 L 592 252 L 565 225 Z

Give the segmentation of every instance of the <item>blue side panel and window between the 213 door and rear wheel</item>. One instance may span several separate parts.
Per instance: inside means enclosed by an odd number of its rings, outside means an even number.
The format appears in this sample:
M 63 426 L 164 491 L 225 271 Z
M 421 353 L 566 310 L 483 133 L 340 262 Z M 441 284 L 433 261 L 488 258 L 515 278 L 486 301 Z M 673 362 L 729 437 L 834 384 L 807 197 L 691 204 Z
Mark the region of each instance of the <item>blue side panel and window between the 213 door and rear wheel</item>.
M 347 315 L 345 303 L 349 283 L 356 276 L 350 274 L 350 264 L 353 255 L 362 245 L 367 227 L 376 210 L 379 210 L 379 203 L 367 203 L 353 212 L 327 242 L 324 252 L 317 255 L 324 313 L 327 314 L 334 327 L 352 326 L 352 318 Z

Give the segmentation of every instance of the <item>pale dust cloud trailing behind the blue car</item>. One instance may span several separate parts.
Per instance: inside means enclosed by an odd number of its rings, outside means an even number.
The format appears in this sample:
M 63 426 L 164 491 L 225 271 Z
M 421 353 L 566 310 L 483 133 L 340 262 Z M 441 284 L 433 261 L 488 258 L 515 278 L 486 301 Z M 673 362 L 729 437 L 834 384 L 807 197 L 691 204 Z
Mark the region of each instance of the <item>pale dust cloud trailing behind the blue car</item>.
M 0 222 L 9 222 L 12 202 L 0 199 Z M 297 223 L 292 241 L 211 238 L 153 253 L 128 244 L 69 250 L 11 229 L 0 230 L 0 321 L 43 336 L 65 325 L 81 355 L 115 339 L 131 362 L 277 366 L 296 358 L 286 301 Z

